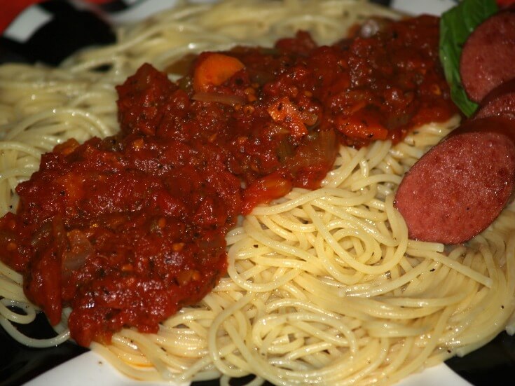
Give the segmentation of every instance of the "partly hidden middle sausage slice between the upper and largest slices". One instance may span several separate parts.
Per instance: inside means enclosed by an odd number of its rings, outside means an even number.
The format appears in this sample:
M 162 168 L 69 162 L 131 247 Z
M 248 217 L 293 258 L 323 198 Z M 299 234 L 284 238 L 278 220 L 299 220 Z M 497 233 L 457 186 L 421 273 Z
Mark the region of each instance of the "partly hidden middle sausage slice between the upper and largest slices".
M 506 116 L 515 119 L 515 79 L 501 83 L 483 98 L 472 118 Z

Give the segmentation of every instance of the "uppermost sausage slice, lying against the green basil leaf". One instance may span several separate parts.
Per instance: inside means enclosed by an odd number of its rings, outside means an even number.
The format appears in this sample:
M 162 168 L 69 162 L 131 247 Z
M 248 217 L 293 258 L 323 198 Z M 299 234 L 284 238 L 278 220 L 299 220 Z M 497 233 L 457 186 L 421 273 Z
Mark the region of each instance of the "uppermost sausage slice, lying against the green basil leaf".
M 515 12 L 502 11 L 470 34 L 460 56 L 460 77 L 467 95 L 481 102 L 488 92 L 515 78 Z

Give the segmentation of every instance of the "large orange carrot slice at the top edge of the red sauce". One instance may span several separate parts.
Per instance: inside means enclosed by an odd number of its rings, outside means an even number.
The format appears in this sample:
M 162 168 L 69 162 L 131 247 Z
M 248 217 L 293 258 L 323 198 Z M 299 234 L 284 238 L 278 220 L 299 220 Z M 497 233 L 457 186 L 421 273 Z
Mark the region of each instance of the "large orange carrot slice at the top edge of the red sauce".
M 207 91 L 211 85 L 221 85 L 245 65 L 235 57 L 209 53 L 200 59 L 193 74 L 193 90 Z

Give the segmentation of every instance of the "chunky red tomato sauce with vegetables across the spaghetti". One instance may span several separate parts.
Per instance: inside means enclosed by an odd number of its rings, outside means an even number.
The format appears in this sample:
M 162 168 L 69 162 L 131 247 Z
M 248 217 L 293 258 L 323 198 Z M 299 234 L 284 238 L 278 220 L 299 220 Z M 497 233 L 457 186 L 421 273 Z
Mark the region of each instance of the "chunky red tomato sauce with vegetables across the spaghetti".
M 123 327 L 156 332 L 226 273 L 225 235 L 240 214 L 317 188 L 338 146 L 401 140 L 446 120 L 438 19 L 375 20 L 333 46 L 310 35 L 238 47 L 233 74 L 195 85 L 202 53 L 169 81 L 144 64 L 118 90 L 120 132 L 69 140 L 41 158 L 0 220 L 1 259 L 52 324 L 62 307 L 76 342 Z M 234 60 L 233 60 L 234 62 Z

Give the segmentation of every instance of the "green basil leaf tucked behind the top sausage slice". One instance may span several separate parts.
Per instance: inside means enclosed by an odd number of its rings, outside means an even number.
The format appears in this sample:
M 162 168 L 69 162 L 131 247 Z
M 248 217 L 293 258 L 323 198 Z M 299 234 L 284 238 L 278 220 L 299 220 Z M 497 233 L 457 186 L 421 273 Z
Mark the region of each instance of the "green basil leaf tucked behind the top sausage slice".
M 440 61 L 451 88 L 451 98 L 465 116 L 471 116 L 478 105 L 467 97 L 461 83 L 462 46 L 474 28 L 497 11 L 495 0 L 463 0 L 441 15 Z

